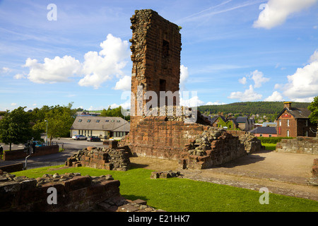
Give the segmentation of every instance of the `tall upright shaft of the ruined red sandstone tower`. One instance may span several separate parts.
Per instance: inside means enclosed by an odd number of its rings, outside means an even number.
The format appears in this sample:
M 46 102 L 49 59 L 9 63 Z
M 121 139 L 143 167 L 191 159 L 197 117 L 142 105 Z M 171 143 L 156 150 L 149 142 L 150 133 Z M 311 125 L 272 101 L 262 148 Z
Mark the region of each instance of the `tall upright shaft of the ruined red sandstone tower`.
M 138 121 L 138 107 L 146 102 L 143 95 L 153 91 L 158 107 L 168 105 L 161 100 L 160 91 L 175 93 L 173 105 L 179 105 L 181 35 L 179 27 L 151 9 L 136 10 L 131 17 L 131 124 Z M 141 92 L 142 91 L 142 92 Z M 139 101 L 139 103 L 138 103 Z M 140 108 L 139 108 L 140 109 Z

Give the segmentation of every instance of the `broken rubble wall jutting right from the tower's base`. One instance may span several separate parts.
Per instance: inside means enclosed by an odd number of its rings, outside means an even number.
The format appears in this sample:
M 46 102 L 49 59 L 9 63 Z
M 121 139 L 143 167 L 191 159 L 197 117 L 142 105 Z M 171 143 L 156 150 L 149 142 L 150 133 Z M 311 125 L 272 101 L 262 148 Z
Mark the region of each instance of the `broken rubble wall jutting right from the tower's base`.
M 260 149 L 261 141 L 249 133 L 233 136 L 225 129 L 209 126 L 207 131 L 184 146 L 179 165 L 182 169 L 206 169 Z

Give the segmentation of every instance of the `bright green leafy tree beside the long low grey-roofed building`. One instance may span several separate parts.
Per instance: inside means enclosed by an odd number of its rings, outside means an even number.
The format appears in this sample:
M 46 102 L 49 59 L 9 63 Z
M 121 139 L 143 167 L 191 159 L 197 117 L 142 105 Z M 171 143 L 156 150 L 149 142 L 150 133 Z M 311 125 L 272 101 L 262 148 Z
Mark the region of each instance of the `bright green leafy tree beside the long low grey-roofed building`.
M 41 130 L 46 133 L 49 143 L 53 138 L 69 136 L 69 130 L 75 119 L 76 109 L 71 109 L 72 103 L 68 106 L 45 107 L 45 117 L 38 120 L 33 129 Z M 45 121 L 47 120 L 47 121 Z

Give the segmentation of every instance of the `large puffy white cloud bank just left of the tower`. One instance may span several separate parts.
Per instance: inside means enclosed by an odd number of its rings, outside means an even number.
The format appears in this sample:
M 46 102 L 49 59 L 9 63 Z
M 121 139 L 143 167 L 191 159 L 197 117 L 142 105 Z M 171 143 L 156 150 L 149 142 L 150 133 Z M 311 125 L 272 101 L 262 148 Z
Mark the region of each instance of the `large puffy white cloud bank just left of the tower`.
M 34 83 L 58 83 L 69 82 L 74 76 L 83 76 L 78 85 L 99 88 L 114 76 L 124 76 L 122 69 L 126 66 L 125 60 L 130 56 L 128 42 L 109 34 L 107 39 L 100 43 L 100 47 L 100 52 L 87 52 L 83 63 L 71 56 L 45 58 L 43 63 L 28 58 L 24 65 L 30 69 L 28 79 Z M 14 78 L 25 76 L 18 73 Z

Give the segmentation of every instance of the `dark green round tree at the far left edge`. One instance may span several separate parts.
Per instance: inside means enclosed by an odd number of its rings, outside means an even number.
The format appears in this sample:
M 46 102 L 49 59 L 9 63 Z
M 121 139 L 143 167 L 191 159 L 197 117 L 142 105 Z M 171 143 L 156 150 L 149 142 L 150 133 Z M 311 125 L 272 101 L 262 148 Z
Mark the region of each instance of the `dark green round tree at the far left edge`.
M 0 121 L 0 141 L 6 145 L 26 143 L 33 136 L 30 124 L 30 113 L 25 107 L 18 107 L 12 112 L 6 112 Z

